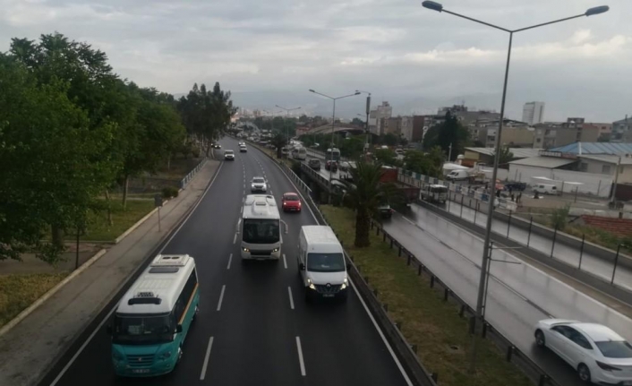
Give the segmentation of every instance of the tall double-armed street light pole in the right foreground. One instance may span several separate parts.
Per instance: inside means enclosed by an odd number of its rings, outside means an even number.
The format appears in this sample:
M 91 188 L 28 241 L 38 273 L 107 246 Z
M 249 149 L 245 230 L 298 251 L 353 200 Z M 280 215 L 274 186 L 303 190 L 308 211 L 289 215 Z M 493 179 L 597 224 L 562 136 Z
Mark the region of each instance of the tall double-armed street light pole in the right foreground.
M 450 11 L 446 11 L 445 9 L 443 9 L 443 5 L 430 1 L 430 0 L 426 0 L 422 3 L 423 7 L 428 8 L 432 11 L 437 11 L 437 12 L 444 12 L 444 13 L 449 13 L 452 14 L 454 16 L 458 16 L 460 18 L 463 19 L 467 19 L 469 21 L 474 21 L 474 22 L 478 22 L 480 24 L 486 25 L 488 27 L 491 27 L 493 29 L 496 30 L 502 30 L 504 32 L 508 32 L 509 34 L 509 47 L 507 50 L 507 64 L 505 65 L 505 82 L 502 86 L 502 102 L 500 104 L 500 122 L 499 122 L 499 128 L 498 128 L 498 133 L 496 134 L 496 145 L 495 145 L 495 157 L 494 157 L 494 167 L 493 167 L 493 171 L 491 172 L 491 189 L 490 189 L 490 198 L 489 198 L 489 203 L 488 203 L 488 210 L 487 210 L 487 224 L 485 227 L 485 239 L 483 242 L 483 262 L 481 263 L 481 278 L 479 279 L 479 285 L 478 285 L 478 296 L 476 298 L 476 319 L 474 320 L 474 322 L 476 320 L 478 320 L 479 322 L 483 322 L 483 302 L 484 302 L 484 291 L 485 291 L 485 278 L 487 277 L 487 269 L 488 269 L 488 259 L 490 258 L 490 252 L 491 252 L 491 219 L 493 217 L 493 213 L 494 213 L 494 199 L 496 196 L 496 177 L 498 176 L 498 165 L 499 165 L 499 161 L 500 161 L 500 134 L 502 133 L 502 124 L 503 121 L 505 119 L 505 100 L 507 97 L 507 81 L 508 81 L 508 76 L 509 76 L 509 60 L 511 59 L 511 43 L 512 40 L 514 38 L 514 33 L 516 32 L 522 32 L 524 30 L 533 30 L 534 28 L 538 28 L 538 27 L 543 27 L 545 25 L 549 25 L 549 24 L 553 24 L 553 23 L 557 23 L 560 21 L 568 21 L 571 19 L 576 19 L 576 18 L 580 18 L 580 17 L 584 17 L 584 16 L 593 16 L 595 14 L 599 14 L 599 13 L 605 13 L 608 12 L 608 10 L 610 9 L 610 7 L 608 5 L 602 5 L 602 6 L 597 6 L 594 8 L 590 8 L 588 9 L 585 13 L 581 13 L 581 14 L 577 14 L 575 16 L 570 16 L 564 19 L 559 19 L 559 20 L 554 20 L 554 21 L 548 21 L 548 22 L 543 22 L 540 24 L 535 24 L 532 25 L 530 27 L 525 27 L 525 28 L 521 28 L 521 29 L 517 29 L 517 30 L 508 30 L 506 28 L 502 28 L 499 27 L 497 25 L 493 25 L 490 24 L 489 22 L 485 22 L 485 21 L 480 21 L 480 20 L 476 20 L 474 18 L 471 18 L 469 16 L 465 16 L 459 13 L 453 13 Z M 475 327 L 475 324 L 474 324 Z M 472 347 L 472 370 L 474 370 L 474 359 L 476 357 L 476 339 L 475 339 L 475 330 L 474 330 L 474 341 L 473 341 L 473 347 Z

